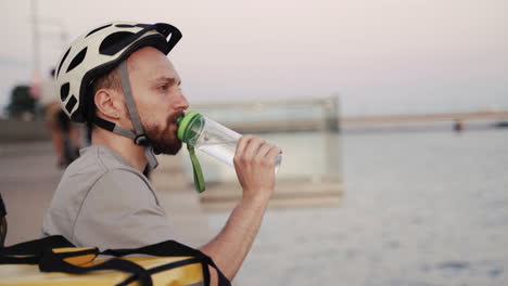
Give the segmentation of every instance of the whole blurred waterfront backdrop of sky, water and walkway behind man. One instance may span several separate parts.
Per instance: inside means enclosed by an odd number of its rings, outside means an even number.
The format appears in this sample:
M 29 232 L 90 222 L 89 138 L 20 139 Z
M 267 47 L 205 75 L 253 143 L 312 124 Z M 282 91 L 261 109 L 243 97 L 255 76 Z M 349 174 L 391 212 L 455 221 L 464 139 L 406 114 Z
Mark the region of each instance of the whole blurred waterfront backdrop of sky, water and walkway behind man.
M 1 1 L 5 244 L 38 237 L 63 172 L 43 94 L 65 47 L 111 21 L 167 22 L 183 34 L 169 58 L 191 108 L 284 150 L 237 285 L 507 285 L 507 11 L 503 0 Z M 200 156 L 209 190 L 198 197 L 181 153 L 152 181 L 181 239 L 199 245 L 240 191 L 231 169 Z

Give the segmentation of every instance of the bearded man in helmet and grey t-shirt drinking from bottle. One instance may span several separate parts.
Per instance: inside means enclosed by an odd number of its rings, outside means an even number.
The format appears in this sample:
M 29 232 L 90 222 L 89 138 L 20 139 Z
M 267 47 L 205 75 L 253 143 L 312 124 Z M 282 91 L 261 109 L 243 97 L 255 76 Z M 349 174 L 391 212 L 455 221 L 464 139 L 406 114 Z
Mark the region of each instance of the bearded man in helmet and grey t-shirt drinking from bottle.
M 189 103 L 166 54 L 181 34 L 168 24 L 112 23 L 79 37 L 56 70 L 63 109 L 93 123 L 92 146 L 65 171 L 45 218 L 45 235 L 77 246 L 131 248 L 174 237 L 153 186 L 142 174 L 153 150 L 176 154 L 177 118 Z M 232 280 L 257 234 L 275 187 L 281 151 L 240 139 L 234 167 L 243 198 L 223 231 L 200 248 Z M 183 242 L 185 243 L 185 242 Z

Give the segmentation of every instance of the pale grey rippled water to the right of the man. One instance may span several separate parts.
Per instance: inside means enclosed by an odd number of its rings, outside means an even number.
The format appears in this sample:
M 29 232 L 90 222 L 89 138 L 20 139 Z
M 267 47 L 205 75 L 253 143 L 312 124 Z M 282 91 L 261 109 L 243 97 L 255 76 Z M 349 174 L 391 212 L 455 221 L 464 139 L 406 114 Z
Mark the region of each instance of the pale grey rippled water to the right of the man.
M 343 204 L 269 209 L 238 285 L 508 285 L 508 130 L 341 141 Z

